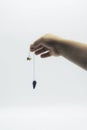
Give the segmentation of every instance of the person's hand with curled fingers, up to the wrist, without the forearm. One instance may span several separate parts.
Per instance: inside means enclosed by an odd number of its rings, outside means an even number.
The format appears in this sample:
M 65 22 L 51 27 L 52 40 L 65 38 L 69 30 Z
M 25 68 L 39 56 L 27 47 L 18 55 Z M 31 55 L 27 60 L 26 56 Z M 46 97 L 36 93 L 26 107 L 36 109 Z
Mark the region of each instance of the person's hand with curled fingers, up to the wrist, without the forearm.
M 60 40 L 61 38 L 55 35 L 46 34 L 31 44 L 30 51 L 35 52 L 36 55 L 40 55 L 42 58 L 59 56 L 58 43 Z

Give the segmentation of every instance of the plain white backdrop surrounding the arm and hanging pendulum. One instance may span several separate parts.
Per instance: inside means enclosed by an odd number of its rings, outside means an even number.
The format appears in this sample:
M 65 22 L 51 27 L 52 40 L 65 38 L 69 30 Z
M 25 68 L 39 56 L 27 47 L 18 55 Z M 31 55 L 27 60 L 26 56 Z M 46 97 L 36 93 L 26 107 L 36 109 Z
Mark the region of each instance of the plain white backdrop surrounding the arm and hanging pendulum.
M 0 0 L 1 130 L 87 130 L 87 72 L 63 57 L 35 56 L 33 90 L 33 59 L 26 60 L 30 44 L 46 33 L 87 43 L 86 5 L 86 0 Z

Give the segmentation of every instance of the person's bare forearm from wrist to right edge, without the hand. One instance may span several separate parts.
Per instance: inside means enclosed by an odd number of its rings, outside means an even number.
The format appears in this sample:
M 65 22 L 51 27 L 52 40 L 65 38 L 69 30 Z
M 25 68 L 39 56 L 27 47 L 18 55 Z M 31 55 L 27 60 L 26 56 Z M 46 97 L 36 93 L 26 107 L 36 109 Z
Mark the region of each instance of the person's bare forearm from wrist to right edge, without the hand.
M 63 57 L 87 70 L 87 45 L 75 41 L 62 40 L 60 53 Z

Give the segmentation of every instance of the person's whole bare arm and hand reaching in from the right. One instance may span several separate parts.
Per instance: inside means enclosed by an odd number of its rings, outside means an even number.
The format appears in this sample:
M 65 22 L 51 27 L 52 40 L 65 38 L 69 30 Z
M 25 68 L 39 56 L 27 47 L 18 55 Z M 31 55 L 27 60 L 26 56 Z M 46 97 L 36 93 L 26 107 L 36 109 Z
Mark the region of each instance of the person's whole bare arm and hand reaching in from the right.
M 87 70 L 86 44 L 46 34 L 31 44 L 30 51 L 40 55 L 41 58 L 63 56 Z

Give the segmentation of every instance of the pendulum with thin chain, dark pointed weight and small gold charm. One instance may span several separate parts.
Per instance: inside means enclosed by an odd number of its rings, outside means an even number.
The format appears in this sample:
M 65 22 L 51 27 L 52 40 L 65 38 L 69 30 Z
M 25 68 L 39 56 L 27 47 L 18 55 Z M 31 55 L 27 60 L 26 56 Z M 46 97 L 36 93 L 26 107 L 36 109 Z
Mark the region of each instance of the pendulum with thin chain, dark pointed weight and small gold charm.
M 27 61 L 30 61 L 31 60 L 31 57 L 30 57 L 30 53 L 27 57 Z M 36 87 L 36 80 L 35 80 L 35 55 L 33 54 L 33 82 L 32 82 L 32 85 L 33 85 L 33 89 L 35 89 Z

